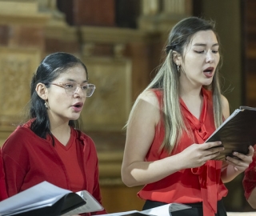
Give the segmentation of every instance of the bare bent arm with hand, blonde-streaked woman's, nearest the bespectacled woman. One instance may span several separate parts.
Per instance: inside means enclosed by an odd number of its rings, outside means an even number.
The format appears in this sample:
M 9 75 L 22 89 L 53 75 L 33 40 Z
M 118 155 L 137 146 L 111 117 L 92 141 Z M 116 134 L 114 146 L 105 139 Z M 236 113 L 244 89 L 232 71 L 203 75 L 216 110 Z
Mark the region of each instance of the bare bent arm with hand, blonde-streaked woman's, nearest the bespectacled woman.
M 122 181 L 126 186 L 145 185 L 165 178 L 178 170 L 202 166 L 219 154 L 219 142 L 193 144 L 175 154 L 154 162 L 146 162 L 146 154 L 154 140 L 155 126 L 160 119 L 158 98 L 153 92 L 139 96 L 127 125 L 126 147 L 122 162 Z

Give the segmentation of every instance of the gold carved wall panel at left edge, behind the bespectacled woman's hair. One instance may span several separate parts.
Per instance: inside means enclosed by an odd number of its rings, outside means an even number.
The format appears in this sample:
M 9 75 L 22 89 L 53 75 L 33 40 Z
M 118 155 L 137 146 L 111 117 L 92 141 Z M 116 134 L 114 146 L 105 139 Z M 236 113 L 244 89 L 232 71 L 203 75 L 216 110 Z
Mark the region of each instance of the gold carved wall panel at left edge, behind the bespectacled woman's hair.
M 30 78 L 39 58 L 38 50 L 0 48 L 0 126 L 19 120 L 30 98 Z

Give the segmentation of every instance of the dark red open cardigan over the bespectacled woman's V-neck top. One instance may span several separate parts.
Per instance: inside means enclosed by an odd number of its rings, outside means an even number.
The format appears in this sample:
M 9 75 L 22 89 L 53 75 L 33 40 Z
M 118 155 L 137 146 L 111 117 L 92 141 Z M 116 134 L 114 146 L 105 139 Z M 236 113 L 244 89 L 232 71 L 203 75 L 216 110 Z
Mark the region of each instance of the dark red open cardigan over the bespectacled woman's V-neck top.
M 98 156 L 93 140 L 79 130 L 72 129 L 81 167 L 84 188 L 102 203 L 98 182 Z M 50 138 L 40 138 L 30 130 L 30 122 L 18 126 L 2 146 L 6 190 L 9 196 L 47 181 L 55 186 L 72 190 L 72 178 Z M 76 175 L 77 176 L 77 175 Z M 76 192 L 76 191 L 74 191 Z M 106 210 L 85 215 L 106 214 Z

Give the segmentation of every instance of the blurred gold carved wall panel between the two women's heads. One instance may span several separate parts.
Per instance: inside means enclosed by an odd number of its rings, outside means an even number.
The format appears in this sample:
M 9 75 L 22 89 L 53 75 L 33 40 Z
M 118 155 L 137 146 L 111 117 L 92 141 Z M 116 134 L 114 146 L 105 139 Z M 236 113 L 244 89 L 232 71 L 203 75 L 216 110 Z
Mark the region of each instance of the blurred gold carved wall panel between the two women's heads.
M 131 107 L 131 63 L 125 58 L 86 58 L 89 81 L 96 90 L 86 99 L 86 130 L 122 130 Z

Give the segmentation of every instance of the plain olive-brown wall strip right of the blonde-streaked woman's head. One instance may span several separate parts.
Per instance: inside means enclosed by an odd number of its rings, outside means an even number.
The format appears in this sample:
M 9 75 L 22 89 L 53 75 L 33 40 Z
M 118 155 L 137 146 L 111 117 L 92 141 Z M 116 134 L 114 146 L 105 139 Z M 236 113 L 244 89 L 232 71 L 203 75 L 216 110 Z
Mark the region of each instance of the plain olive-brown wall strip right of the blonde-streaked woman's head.
M 230 101 L 230 111 L 242 105 L 242 38 L 241 8 L 239 0 L 203 0 L 202 16 L 217 22 L 217 30 L 222 43 L 225 78 L 224 90 Z

